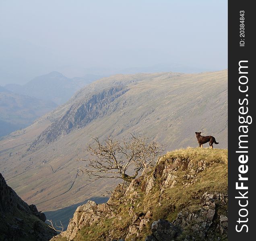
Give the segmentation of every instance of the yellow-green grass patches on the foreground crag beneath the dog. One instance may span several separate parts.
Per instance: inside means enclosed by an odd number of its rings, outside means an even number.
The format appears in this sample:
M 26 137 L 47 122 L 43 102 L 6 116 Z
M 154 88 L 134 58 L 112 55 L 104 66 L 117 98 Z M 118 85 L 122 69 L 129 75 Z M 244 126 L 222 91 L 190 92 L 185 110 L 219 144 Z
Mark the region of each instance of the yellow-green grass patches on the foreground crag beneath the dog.
M 153 221 L 163 218 L 169 221 L 176 219 L 178 212 L 183 208 L 188 208 L 191 212 L 198 210 L 200 197 L 204 192 L 221 192 L 227 193 L 227 149 L 200 149 L 188 148 L 168 152 L 161 163 L 167 159 L 173 160 L 180 157 L 181 159 L 189 158 L 190 162 L 197 164 L 198 161 L 206 161 L 206 169 L 196 175 L 196 181 L 184 188 L 184 176 L 190 174 L 190 169 L 185 171 L 178 170 L 178 182 L 173 188 L 167 188 L 162 195 L 161 206 L 159 206 L 160 188 L 159 184 L 163 181 L 157 178 L 157 185 L 149 194 L 141 190 L 142 184 L 135 190 L 140 194 L 140 198 L 135 204 L 120 204 L 120 201 L 113 202 L 116 205 L 116 217 L 105 219 L 100 223 L 95 223 L 91 227 L 84 227 L 78 232 L 75 241 L 103 241 L 109 231 L 114 229 L 114 238 L 124 238 L 126 228 L 132 223 L 132 216 L 128 214 L 130 206 L 134 206 L 134 212 L 147 212 L 151 210 L 153 218 L 151 223 L 140 233 L 138 240 L 144 240 L 151 233 L 150 227 Z M 159 164 L 161 164 L 159 163 Z M 194 179 L 195 180 L 195 179 Z M 145 182 L 145 180 L 144 180 Z M 175 208 L 173 208 L 173 205 Z M 218 213 L 226 214 L 227 206 L 220 206 Z M 120 220 L 120 216 L 122 219 Z M 126 241 L 129 241 L 126 239 Z M 62 239 L 64 240 L 64 239 Z

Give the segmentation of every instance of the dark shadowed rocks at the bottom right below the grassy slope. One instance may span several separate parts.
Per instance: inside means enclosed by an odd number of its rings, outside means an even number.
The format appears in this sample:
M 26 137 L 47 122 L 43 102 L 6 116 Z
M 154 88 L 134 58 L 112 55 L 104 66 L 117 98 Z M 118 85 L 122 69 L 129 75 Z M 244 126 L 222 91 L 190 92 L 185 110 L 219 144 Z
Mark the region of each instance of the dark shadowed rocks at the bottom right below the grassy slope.
M 153 222 L 152 234 L 145 241 L 172 241 L 179 235 L 184 241 L 227 238 L 227 216 L 216 210 L 216 206 L 227 204 L 227 195 L 205 192 L 201 201 L 197 210 L 191 212 L 184 208 L 172 223 L 163 219 Z

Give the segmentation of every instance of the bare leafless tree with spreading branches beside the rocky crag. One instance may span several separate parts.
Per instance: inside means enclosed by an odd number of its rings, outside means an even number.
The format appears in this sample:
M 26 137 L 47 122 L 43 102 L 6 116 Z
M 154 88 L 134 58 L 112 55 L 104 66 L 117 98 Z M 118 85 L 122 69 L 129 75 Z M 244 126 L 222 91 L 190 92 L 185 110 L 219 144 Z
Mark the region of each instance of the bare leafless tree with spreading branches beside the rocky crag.
M 131 134 L 132 135 L 132 134 Z M 99 178 L 121 178 L 131 182 L 140 171 L 155 165 L 156 157 L 163 152 L 163 146 L 148 138 L 137 138 L 132 135 L 130 141 L 105 139 L 103 144 L 98 138 L 93 138 L 95 146 L 89 146 L 89 159 L 83 173 L 87 173 L 93 180 Z M 130 174 L 128 175 L 127 172 Z

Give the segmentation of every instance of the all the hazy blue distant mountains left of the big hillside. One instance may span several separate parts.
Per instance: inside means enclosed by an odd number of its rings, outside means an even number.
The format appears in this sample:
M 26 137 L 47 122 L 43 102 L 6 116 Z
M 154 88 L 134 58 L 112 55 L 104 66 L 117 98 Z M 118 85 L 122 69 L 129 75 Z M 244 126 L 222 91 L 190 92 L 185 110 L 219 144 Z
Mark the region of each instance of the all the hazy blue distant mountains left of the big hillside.
M 52 71 L 22 86 L 0 86 L 0 137 L 31 125 L 36 118 L 64 104 L 76 91 L 101 77 L 85 75 L 81 78 L 66 78 Z

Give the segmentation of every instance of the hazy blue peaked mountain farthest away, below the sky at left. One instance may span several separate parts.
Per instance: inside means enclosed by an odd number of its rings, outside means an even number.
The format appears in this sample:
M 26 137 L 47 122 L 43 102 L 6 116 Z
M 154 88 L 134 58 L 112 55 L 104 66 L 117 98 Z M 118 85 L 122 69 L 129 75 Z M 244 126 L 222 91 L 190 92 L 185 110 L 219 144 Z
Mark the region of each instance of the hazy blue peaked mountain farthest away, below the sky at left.
M 59 72 L 54 71 L 36 77 L 23 86 L 7 84 L 5 88 L 17 94 L 23 94 L 41 100 L 50 100 L 60 105 L 71 98 L 77 90 L 99 78 L 101 76 L 88 74 L 81 78 L 69 79 Z

